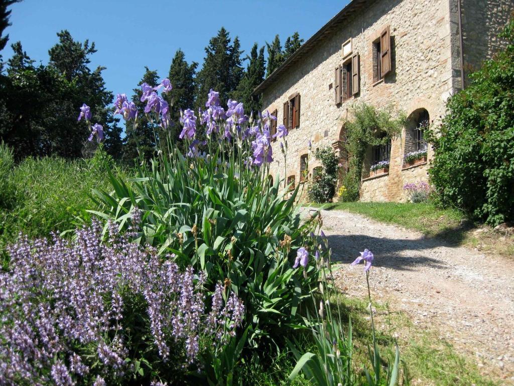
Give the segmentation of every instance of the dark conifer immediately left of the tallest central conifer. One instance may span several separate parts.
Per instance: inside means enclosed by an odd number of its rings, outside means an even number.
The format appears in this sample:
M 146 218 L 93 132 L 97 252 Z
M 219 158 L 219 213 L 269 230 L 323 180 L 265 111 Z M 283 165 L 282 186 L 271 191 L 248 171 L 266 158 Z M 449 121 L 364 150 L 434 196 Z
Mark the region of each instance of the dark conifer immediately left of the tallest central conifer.
M 184 52 L 178 49 L 171 62 L 168 78 L 173 85 L 173 90 L 166 96 L 170 103 L 170 114 L 173 122 L 170 137 L 176 141 L 180 133 L 180 109 L 192 109 L 195 102 L 196 67 L 198 63 L 188 64 Z

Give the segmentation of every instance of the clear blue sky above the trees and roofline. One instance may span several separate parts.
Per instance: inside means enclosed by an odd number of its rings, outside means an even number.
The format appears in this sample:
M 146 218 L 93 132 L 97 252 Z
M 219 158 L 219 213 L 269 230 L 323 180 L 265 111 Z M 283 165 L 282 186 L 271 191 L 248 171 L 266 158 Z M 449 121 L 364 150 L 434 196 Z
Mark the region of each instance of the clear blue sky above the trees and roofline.
M 224 26 L 230 36 L 239 36 L 242 49 L 271 42 L 278 33 L 281 42 L 298 31 L 307 40 L 346 4 L 343 1 L 145 1 L 145 0 L 24 0 L 11 9 L 8 47 L 22 42 L 27 54 L 47 63 L 48 49 L 57 42 L 56 33 L 68 29 L 75 40 L 89 39 L 98 52 L 91 67 L 103 72 L 107 89 L 131 93 L 144 66 L 166 77 L 178 48 L 188 62 L 203 63 L 205 46 Z

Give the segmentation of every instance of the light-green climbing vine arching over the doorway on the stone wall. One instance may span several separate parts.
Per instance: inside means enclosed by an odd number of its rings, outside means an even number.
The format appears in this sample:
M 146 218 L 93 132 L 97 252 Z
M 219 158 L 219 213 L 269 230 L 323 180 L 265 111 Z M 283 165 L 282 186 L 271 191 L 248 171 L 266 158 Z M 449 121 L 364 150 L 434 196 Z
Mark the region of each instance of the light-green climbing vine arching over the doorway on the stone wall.
M 351 115 L 353 119 L 345 122 L 347 139 L 343 147 L 350 156 L 350 161 L 348 172 L 343 177 L 345 190 L 342 201 L 359 199 L 362 167 L 368 146 L 387 144 L 392 137 L 401 134 L 407 121 L 404 112 L 395 112 L 391 106 L 377 109 L 363 102 L 352 106 Z

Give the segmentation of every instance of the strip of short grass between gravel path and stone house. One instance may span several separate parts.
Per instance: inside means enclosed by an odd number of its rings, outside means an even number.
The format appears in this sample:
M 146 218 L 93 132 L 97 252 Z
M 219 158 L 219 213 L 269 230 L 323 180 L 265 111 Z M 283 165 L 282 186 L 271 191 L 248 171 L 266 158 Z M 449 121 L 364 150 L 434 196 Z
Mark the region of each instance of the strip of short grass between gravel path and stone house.
M 514 258 L 514 235 L 497 232 L 473 223 L 457 209 L 442 209 L 431 203 L 337 202 L 324 205 L 326 210 L 346 210 L 371 219 L 403 226 L 427 237 L 438 237 L 451 245 L 463 245 L 488 255 Z

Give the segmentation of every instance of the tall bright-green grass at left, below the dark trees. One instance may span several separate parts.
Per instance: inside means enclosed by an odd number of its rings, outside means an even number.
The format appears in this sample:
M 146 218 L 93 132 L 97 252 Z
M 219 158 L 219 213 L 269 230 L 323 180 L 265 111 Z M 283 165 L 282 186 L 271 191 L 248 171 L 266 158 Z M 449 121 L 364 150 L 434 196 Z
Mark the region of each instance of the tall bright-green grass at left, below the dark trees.
M 15 165 L 12 152 L 0 147 L 0 253 L 19 233 L 31 238 L 74 229 L 89 218 L 91 189 L 107 189 L 104 155 L 68 161 L 27 158 Z M 120 172 L 120 174 L 123 174 Z

